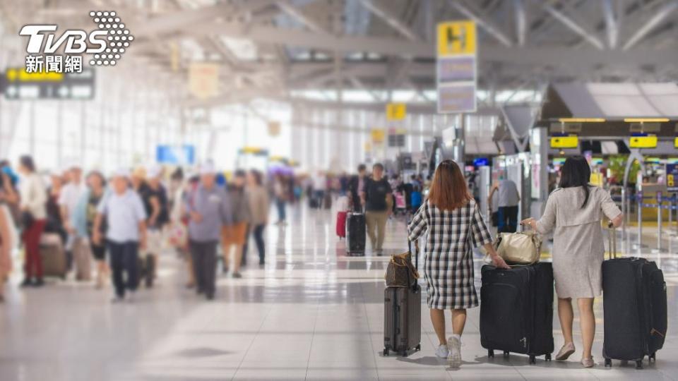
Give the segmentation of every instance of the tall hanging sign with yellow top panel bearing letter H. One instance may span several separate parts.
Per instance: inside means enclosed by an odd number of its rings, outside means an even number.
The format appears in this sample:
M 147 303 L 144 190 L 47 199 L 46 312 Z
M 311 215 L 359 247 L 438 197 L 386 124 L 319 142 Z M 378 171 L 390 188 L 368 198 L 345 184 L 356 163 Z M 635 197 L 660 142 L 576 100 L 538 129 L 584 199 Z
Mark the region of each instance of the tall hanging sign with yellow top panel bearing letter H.
M 474 112 L 477 108 L 475 22 L 463 20 L 439 23 L 436 51 L 438 112 Z

